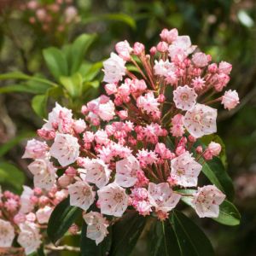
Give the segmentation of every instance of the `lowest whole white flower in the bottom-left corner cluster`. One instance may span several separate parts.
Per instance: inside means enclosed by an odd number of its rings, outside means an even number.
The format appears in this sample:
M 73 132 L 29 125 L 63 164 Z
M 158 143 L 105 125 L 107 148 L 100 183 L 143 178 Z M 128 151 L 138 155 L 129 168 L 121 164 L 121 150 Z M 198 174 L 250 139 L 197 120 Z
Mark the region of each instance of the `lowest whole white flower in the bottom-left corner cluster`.
M 20 234 L 17 240 L 25 248 L 26 255 L 37 251 L 41 244 L 41 236 L 36 224 L 26 222 L 20 224 Z

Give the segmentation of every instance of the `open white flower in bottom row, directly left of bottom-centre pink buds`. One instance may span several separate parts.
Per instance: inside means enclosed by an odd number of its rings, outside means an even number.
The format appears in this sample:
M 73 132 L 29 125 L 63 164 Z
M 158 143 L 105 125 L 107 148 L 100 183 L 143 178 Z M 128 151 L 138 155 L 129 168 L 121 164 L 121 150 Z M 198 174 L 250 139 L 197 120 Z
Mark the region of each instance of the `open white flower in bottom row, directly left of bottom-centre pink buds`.
M 121 217 L 128 207 L 129 196 L 125 194 L 125 189 L 117 183 L 110 183 L 108 186 L 98 190 L 99 205 L 101 212 L 115 217 Z

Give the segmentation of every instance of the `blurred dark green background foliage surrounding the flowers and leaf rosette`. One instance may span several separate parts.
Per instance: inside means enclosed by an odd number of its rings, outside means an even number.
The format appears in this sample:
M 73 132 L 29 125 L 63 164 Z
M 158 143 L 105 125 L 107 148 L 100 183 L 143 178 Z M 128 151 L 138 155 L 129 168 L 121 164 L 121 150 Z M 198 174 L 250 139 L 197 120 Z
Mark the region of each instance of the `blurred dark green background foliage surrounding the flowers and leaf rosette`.
M 142 42 L 149 49 L 165 27 L 177 27 L 180 34 L 188 34 L 193 44 L 200 45 L 214 61 L 233 64 L 230 89 L 239 92 L 241 104 L 234 111 L 219 110 L 218 133 L 226 144 L 228 172 L 236 187 L 241 225 L 232 228 L 211 220 L 197 221 L 211 237 L 218 256 L 255 256 L 256 1 L 34 2 L 40 8 L 27 8 L 25 0 L 0 0 L 0 74 L 21 71 L 52 79 L 42 55 L 49 46 L 61 48 L 84 32 L 96 33 L 85 56 L 96 62 L 107 58 L 114 44 L 124 39 Z M 20 192 L 22 183 L 32 184 L 27 162 L 20 157 L 26 139 L 34 135 L 42 120 L 31 106 L 34 94 L 6 90 L 10 84 L 14 85 L 15 80 L 0 79 L 0 183 L 3 189 Z M 97 90 L 102 90 L 101 86 Z M 86 102 L 88 97 L 84 95 L 80 100 Z M 140 247 L 137 253 L 143 251 Z

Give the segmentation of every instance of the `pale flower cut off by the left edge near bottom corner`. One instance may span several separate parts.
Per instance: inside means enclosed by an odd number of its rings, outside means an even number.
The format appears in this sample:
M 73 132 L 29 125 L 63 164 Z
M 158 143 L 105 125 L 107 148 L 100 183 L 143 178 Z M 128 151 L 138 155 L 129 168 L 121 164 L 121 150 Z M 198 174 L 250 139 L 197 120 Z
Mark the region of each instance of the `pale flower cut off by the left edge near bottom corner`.
M 9 223 L 0 218 L 0 247 L 11 247 L 15 239 L 15 229 Z

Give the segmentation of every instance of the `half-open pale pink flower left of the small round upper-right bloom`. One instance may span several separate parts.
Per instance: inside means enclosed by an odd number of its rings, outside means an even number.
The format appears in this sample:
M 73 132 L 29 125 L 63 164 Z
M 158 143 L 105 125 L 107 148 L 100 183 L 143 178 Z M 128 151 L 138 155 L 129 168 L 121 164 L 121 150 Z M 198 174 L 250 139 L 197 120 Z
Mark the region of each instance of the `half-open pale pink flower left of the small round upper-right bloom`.
M 137 107 L 142 108 L 146 113 L 153 113 L 159 111 L 160 103 L 157 98 L 154 97 L 152 91 L 148 92 L 145 96 L 139 96 L 137 98 Z

